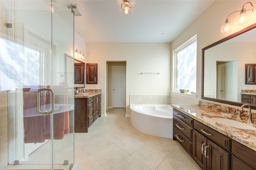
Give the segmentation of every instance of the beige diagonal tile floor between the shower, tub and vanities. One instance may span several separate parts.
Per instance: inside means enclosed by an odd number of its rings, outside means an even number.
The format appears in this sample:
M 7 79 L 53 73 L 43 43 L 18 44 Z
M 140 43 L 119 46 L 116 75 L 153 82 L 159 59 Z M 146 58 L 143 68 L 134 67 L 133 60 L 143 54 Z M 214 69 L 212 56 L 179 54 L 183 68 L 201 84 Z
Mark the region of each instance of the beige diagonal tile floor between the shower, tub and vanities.
M 81 170 L 200 170 L 176 140 L 142 133 L 109 109 L 88 133 L 75 134 L 75 165 Z

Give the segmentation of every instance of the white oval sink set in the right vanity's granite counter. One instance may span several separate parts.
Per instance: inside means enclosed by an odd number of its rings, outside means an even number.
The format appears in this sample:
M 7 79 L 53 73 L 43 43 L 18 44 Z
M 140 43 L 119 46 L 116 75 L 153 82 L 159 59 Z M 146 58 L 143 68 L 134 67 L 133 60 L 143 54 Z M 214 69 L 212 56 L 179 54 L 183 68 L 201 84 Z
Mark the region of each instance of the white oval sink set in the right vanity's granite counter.
M 221 123 L 223 125 L 230 126 L 230 127 L 242 128 L 242 129 L 248 129 L 248 130 L 256 130 L 256 128 L 254 128 L 250 125 L 247 125 L 242 122 L 234 121 L 231 119 L 226 119 L 226 118 L 222 118 L 222 117 L 212 117 L 210 119 L 212 121 L 215 121 L 216 123 Z

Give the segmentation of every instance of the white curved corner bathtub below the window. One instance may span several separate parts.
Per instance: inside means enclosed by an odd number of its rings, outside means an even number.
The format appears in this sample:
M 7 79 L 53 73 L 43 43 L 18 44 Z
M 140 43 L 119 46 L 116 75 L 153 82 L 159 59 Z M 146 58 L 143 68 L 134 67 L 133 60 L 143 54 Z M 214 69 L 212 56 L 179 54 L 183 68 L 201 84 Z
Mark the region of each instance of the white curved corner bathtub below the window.
M 131 125 L 153 136 L 172 138 L 172 107 L 170 105 L 130 105 Z

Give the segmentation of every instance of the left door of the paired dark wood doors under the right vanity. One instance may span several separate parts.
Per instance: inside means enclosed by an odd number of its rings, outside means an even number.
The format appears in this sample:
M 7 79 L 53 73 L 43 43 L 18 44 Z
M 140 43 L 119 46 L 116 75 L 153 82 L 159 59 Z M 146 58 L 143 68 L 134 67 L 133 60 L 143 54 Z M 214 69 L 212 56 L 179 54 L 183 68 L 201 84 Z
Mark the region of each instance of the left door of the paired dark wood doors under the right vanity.
M 206 157 L 203 153 L 207 139 L 196 130 L 194 130 L 193 136 L 193 158 L 203 170 L 206 170 Z

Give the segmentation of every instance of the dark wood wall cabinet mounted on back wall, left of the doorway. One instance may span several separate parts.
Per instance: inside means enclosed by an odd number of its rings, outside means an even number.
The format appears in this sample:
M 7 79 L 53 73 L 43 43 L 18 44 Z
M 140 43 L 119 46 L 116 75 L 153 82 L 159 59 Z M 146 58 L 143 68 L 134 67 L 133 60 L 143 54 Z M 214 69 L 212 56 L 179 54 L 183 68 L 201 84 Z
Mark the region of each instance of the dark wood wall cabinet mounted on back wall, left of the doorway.
M 86 84 L 98 83 L 98 63 L 86 63 Z

